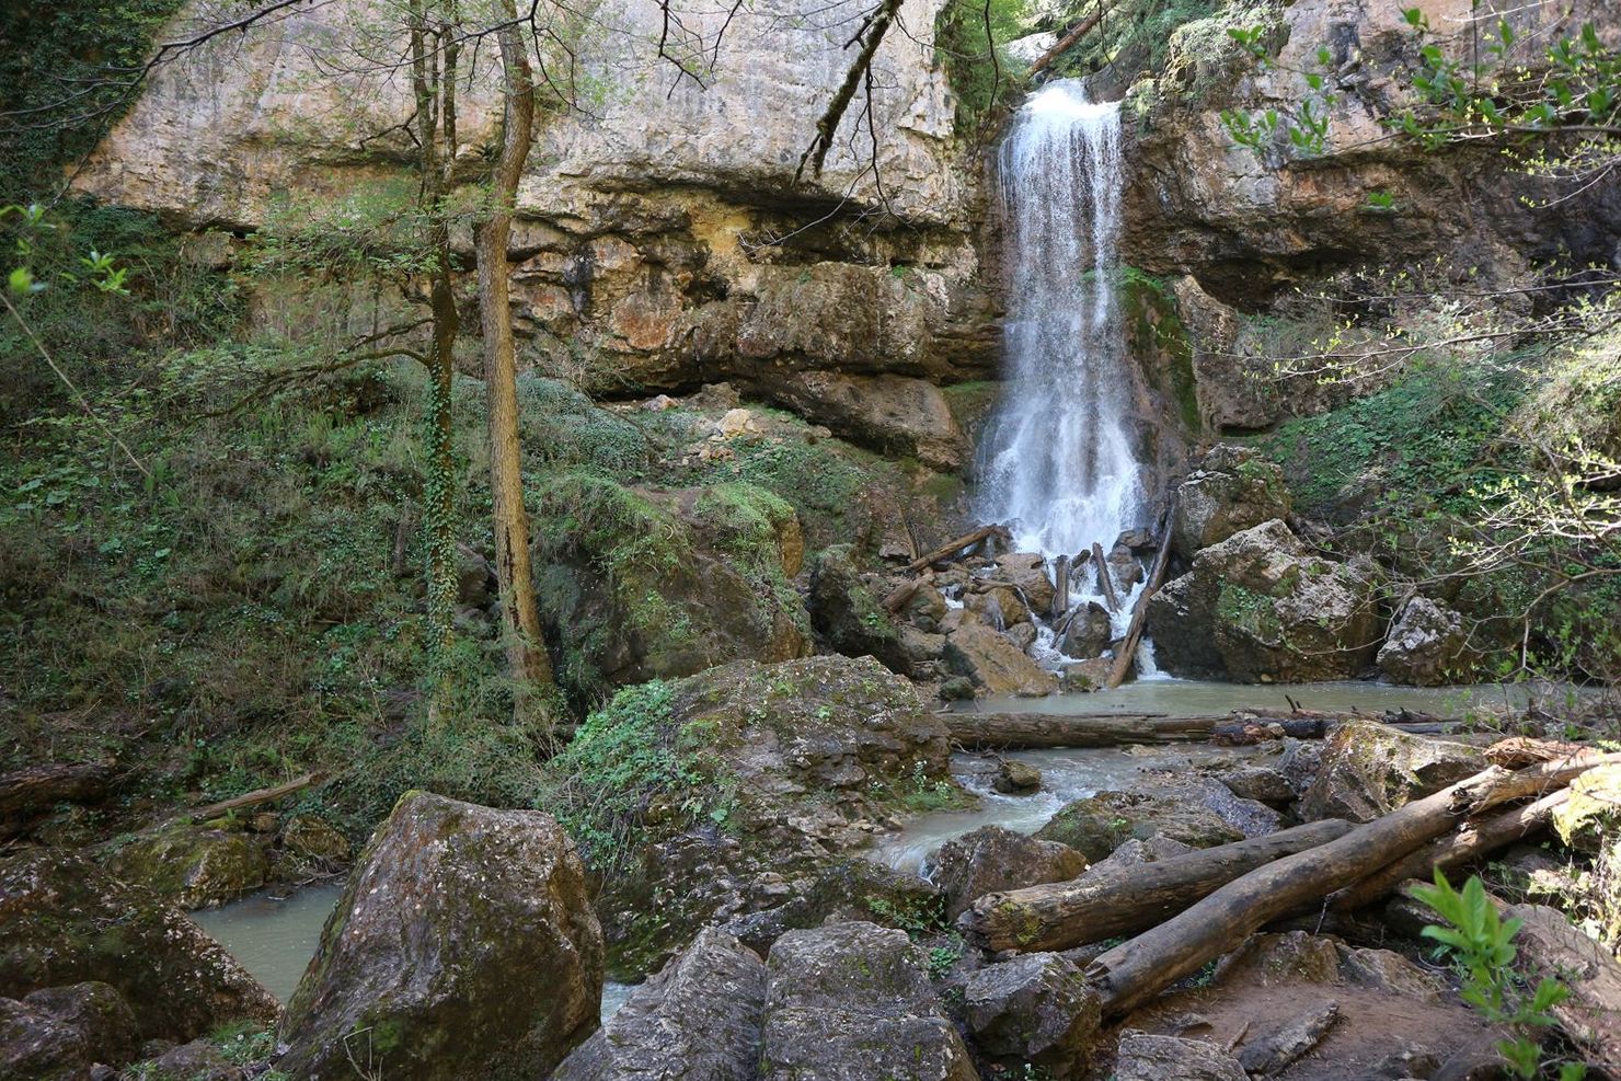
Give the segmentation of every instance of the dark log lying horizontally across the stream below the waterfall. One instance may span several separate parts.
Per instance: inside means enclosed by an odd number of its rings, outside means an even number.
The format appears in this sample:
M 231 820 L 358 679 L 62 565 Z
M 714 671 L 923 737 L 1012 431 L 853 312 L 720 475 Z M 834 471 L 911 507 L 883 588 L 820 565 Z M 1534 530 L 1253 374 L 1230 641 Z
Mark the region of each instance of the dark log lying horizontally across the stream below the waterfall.
M 1225 733 L 1264 733 L 1269 739 L 1321 739 L 1339 721 L 1383 721 L 1405 733 L 1430 731 L 1435 718 L 1414 713 L 1298 713 L 1165 716 L 1164 713 L 942 713 L 952 741 L 969 750 L 1041 750 L 1050 747 L 1120 747 L 1216 739 Z M 1238 742 L 1238 741 L 1235 741 Z M 1255 742 L 1253 739 L 1248 742 Z

